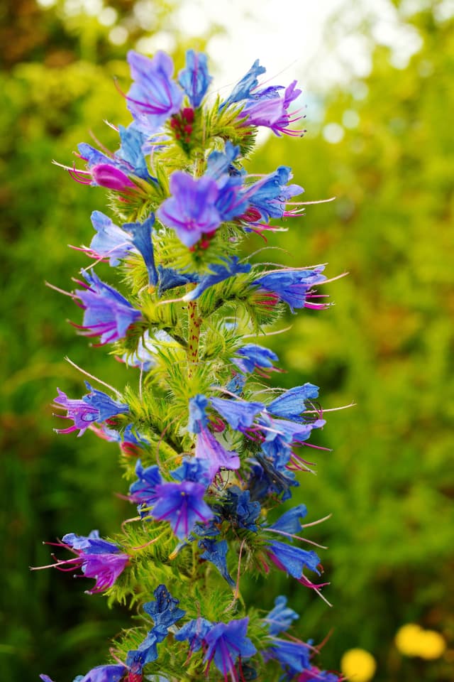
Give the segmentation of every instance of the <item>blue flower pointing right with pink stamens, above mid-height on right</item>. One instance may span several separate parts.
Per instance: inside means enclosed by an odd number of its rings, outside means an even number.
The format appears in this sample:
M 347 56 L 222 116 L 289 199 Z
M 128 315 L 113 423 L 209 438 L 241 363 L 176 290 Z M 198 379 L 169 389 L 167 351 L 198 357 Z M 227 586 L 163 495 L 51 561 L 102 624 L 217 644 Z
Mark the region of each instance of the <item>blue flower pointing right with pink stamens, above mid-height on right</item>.
M 323 266 L 315 270 L 279 270 L 272 271 L 256 279 L 253 284 L 260 286 L 265 291 L 278 296 L 282 301 L 288 303 L 290 310 L 294 313 L 294 308 L 326 308 L 323 303 L 309 303 L 311 288 L 326 280 L 321 274 Z

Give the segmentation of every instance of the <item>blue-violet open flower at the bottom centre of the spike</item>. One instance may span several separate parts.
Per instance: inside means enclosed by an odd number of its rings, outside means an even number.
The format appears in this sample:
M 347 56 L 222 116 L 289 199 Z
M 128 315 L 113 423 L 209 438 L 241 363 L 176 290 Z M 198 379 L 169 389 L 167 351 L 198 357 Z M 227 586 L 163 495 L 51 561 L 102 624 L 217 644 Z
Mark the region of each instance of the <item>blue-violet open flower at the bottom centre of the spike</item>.
M 204 661 L 209 669 L 211 662 L 224 678 L 228 673 L 236 680 L 235 662 L 238 656 L 248 658 L 257 653 L 257 649 L 246 637 L 249 618 L 231 620 L 229 623 L 217 623 L 204 637 L 207 645 Z

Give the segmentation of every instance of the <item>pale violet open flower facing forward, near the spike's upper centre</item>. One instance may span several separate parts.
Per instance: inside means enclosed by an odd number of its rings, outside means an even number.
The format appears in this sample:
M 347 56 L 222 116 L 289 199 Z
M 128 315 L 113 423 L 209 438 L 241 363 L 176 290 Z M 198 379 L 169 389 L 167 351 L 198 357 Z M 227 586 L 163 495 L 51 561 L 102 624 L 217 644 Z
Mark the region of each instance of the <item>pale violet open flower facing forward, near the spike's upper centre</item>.
M 211 178 L 193 178 L 175 171 L 170 176 L 170 193 L 156 215 L 166 227 L 172 227 L 187 247 L 193 247 L 202 234 L 214 232 L 221 224 L 216 208 L 218 186 Z

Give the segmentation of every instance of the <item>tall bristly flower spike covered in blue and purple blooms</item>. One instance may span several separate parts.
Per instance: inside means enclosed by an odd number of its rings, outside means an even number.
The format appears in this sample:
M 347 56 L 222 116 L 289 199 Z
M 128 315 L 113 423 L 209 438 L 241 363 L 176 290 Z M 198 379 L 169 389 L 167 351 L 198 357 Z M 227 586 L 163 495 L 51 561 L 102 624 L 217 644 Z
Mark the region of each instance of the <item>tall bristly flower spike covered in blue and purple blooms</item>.
M 109 190 L 115 214 L 94 211 L 89 246 L 77 247 L 92 262 L 71 295 L 83 311 L 74 326 L 132 368 L 130 381 L 123 393 L 87 384 L 81 399 L 57 389 L 55 406 L 72 422 L 57 433 L 89 430 L 118 443 L 123 498 L 138 515 L 112 541 L 98 531 L 64 535 L 56 546 L 75 556 L 51 565 L 94 578 L 89 594 L 139 602 L 145 624 L 77 680 L 334 682 L 337 673 L 314 664 L 316 647 L 287 634 L 299 618 L 287 597 L 267 615 L 240 598 L 245 571 L 277 569 L 325 600 L 328 584 L 312 547 L 324 548 L 306 537 L 319 521 L 303 523 L 304 504 L 273 511 L 314 467 L 301 452 L 319 448 L 309 443 L 326 423 L 319 388 L 263 389 L 279 358 L 245 341 L 266 335 L 286 306 L 326 309 L 316 287 L 328 280 L 322 265 L 253 264 L 240 253 L 251 233 L 264 237 L 278 229 L 273 221 L 304 210 L 290 203 L 304 192 L 291 168 L 247 170 L 260 126 L 301 136 L 301 90 L 296 81 L 260 85 L 256 61 L 228 97 L 212 97 L 206 56 L 194 50 L 176 76 L 162 52 L 131 52 L 128 63 L 133 120 L 118 127 L 118 149 L 79 144 L 84 167 L 65 168 Z M 98 265 L 120 274 L 121 292 Z

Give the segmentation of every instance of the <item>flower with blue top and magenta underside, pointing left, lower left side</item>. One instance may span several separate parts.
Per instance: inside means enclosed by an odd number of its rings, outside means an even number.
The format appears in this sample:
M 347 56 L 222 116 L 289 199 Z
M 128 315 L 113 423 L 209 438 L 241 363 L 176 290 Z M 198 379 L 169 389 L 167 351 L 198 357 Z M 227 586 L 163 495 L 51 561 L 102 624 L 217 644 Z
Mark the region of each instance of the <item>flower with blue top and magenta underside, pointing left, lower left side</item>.
M 56 563 L 39 568 L 57 568 L 64 571 L 80 568 L 84 578 L 96 580 L 94 588 L 87 590 L 89 595 L 111 588 L 118 575 L 123 573 L 130 558 L 128 554 L 121 553 L 116 544 L 101 540 L 98 531 L 92 531 L 88 537 L 68 533 L 63 536 L 61 546 L 71 549 L 77 556 L 73 559 L 56 559 Z M 63 566 L 65 568 L 62 568 Z

